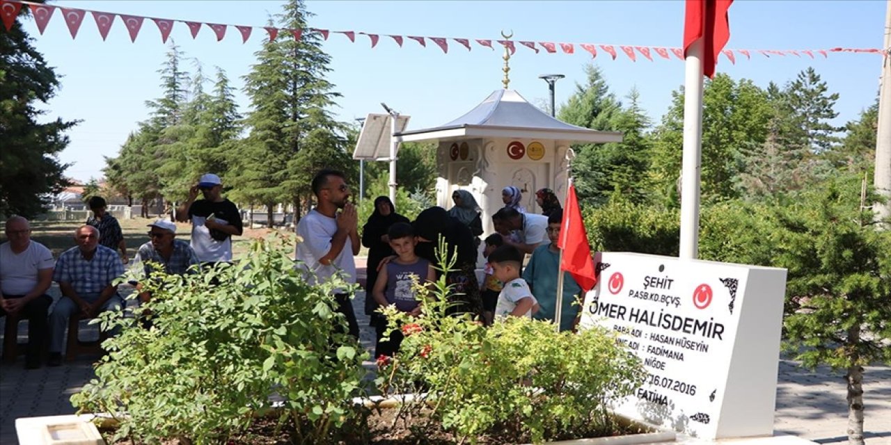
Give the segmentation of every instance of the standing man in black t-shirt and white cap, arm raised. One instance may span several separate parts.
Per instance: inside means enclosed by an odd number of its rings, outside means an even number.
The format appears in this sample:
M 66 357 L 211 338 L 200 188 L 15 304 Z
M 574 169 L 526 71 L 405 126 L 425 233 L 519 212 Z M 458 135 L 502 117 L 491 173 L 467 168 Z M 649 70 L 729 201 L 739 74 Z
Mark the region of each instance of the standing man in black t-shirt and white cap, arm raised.
M 176 208 L 176 221 L 192 220 L 192 249 L 202 263 L 232 261 L 232 236 L 241 235 L 241 212 L 220 196 L 222 188 L 219 176 L 205 174 Z M 199 191 L 204 199 L 196 201 Z

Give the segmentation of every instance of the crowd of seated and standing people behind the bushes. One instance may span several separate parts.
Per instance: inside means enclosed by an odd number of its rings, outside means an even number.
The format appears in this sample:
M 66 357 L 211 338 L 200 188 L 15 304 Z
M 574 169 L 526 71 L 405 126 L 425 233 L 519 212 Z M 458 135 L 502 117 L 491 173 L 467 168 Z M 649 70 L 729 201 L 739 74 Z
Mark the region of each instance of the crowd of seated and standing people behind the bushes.
M 346 176 L 323 170 L 315 175 L 311 187 L 316 206 L 297 224 L 302 239 L 295 252 L 297 267 L 313 283 L 339 273 L 354 284 L 355 256 L 360 243 L 368 247 L 364 311 L 371 316 L 377 335 L 376 355 L 392 355 L 401 342 L 398 331 L 385 336 L 387 320 L 379 308 L 393 306 L 413 316 L 421 313 L 414 284 L 432 282 L 442 273 L 434 267 L 440 239 L 447 244 L 448 256 L 455 259 L 446 272 L 450 311 L 470 313 L 486 324 L 508 316 L 553 320 L 560 271 L 556 240 L 562 210 L 552 190 L 535 193 L 543 214 L 531 214 L 520 204 L 522 191 L 505 187 L 504 206 L 492 215 L 495 233 L 482 243 L 482 213 L 467 190 L 454 191 L 450 210 L 433 206 L 413 222 L 398 214 L 389 198 L 376 198 L 360 238 Z M 176 219 L 192 223 L 190 243 L 176 239 L 176 223 L 159 219 L 149 224 L 149 240 L 137 249 L 131 266 L 137 275 L 150 279 L 161 268 L 168 274 L 200 273 L 203 268 L 232 261 L 232 237 L 243 231 L 241 213 L 222 197 L 222 188 L 219 176 L 204 174 L 177 208 Z M 47 366 L 61 364 L 65 328 L 72 317 L 91 319 L 101 312 L 120 311 L 124 305 L 115 281 L 124 275 L 130 260 L 127 243 L 105 200 L 94 197 L 88 204 L 94 216 L 78 227 L 75 246 L 57 260 L 48 248 L 30 239 L 27 219 L 12 216 L 6 221 L 8 240 L 0 244 L 0 316 L 7 316 L 7 323 L 29 320 L 26 368 L 39 368 L 44 357 Z M 482 286 L 476 273 L 480 249 L 487 259 Z M 527 259 L 527 255 L 531 256 Z M 61 298 L 50 312 L 53 299 L 47 293 L 53 281 L 59 285 Z M 138 303 L 151 300 L 143 282 L 133 280 L 130 284 L 136 289 Z M 337 311 L 347 320 L 348 334 L 358 338 L 352 295 L 347 288 L 333 292 Z M 578 306 L 574 302 L 580 293 L 566 274 L 560 330 L 576 328 Z M 145 326 L 150 327 L 151 322 Z M 48 354 L 44 355 L 45 351 Z

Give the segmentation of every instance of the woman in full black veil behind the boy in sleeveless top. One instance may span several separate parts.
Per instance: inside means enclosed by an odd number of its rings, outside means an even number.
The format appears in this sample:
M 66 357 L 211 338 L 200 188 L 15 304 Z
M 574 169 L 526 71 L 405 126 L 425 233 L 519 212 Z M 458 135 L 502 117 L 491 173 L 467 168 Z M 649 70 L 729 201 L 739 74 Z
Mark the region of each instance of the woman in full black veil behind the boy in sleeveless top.
M 459 303 L 454 312 L 468 312 L 474 317 L 482 316 L 483 303 L 479 296 L 477 281 L 477 246 L 470 229 L 457 218 L 449 216 L 445 208 L 430 207 L 415 218 L 414 234 L 418 237 L 418 245 L 414 252 L 437 265 L 436 249 L 439 237 L 448 244 L 448 255 L 457 256 L 454 271 L 446 274 L 446 282 L 453 285 L 450 300 Z M 441 272 L 437 271 L 437 275 Z

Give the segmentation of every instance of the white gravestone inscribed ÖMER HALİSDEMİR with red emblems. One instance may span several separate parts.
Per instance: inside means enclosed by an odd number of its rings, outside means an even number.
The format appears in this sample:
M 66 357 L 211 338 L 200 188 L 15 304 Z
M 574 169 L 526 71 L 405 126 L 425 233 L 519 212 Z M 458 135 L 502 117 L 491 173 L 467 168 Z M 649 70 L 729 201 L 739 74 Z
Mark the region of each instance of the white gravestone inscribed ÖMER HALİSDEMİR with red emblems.
M 644 364 L 617 412 L 701 439 L 769 436 L 786 270 L 603 253 L 582 327 L 600 324 Z

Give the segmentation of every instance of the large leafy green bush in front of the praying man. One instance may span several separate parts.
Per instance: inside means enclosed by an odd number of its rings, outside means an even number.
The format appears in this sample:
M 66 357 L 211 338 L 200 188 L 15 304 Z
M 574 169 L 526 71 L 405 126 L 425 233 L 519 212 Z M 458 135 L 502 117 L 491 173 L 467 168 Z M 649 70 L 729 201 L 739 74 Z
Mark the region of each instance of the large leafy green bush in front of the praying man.
M 333 311 L 331 290 L 344 283 L 307 285 L 290 252 L 257 240 L 231 266 L 144 282 L 152 299 L 135 318 L 103 316 L 102 328 L 121 333 L 72 403 L 117 418 L 115 439 L 208 443 L 244 431 L 276 395 L 279 425 L 299 442 L 330 439 L 358 415 L 365 354 Z

